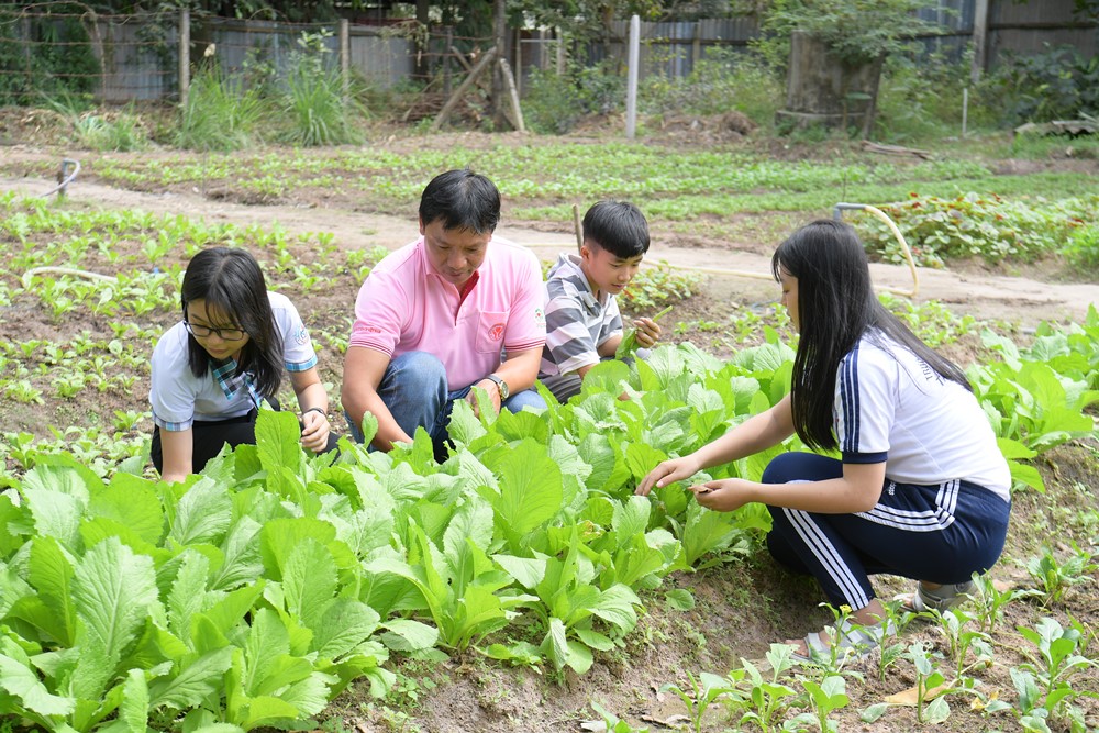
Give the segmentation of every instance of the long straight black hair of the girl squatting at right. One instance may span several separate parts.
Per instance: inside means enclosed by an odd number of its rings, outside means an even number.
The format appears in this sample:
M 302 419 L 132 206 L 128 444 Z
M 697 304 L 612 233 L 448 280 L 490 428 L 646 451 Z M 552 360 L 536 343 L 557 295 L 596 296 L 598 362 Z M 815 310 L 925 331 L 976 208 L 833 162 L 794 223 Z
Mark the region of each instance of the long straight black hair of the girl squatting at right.
M 790 399 L 793 427 L 815 451 L 839 447 L 832 426 L 840 360 L 863 335 L 886 351 L 890 342 L 911 351 L 943 379 L 973 391 L 962 369 L 887 311 L 870 287 L 866 251 L 851 226 L 821 219 L 778 245 L 770 262 L 775 279 L 798 278 L 800 342 L 793 359 Z

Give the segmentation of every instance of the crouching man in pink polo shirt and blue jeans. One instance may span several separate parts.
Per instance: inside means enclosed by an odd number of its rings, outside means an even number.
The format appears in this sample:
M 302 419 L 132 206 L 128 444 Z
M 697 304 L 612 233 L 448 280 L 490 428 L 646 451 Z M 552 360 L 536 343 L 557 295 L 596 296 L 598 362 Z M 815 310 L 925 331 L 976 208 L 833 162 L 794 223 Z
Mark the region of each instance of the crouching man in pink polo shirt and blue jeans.
M 423 427 L 445 456 L 454 400 L 544 409 L 533 389 L 546 340 L 542 268 L 492 232 L 500 192 L 485 176 L 448 170 L 420 197 L 421 237 L 378 263 L 358 291 L 344 359 L 343 406 L 363 441 L 363 415 L 389 451 Z M 501 362 L 501 355 L 507 357 Z

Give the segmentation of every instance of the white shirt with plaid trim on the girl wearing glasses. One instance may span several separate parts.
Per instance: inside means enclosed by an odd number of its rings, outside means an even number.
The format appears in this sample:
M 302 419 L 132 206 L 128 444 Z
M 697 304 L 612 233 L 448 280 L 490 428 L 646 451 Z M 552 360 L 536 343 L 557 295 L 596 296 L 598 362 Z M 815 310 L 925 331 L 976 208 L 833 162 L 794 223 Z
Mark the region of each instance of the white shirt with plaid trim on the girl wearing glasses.
M 309 332 L 290 300 L 268 292 L 275 327 L 282 336 L 282 363 L 287 371 L 306 371 L 317 366 L 317 353 Z M 259 397 L 248 374 L 234 377 L 233 359 L 196 377 L 187 360 L 188 333 L 182 322 L 168 329 L 153 348 L 153 385 L 148 401 L 153 421 L 160 430 L 182 431 L 196 420 L 227 420 L 247 414 L 258 407 Z

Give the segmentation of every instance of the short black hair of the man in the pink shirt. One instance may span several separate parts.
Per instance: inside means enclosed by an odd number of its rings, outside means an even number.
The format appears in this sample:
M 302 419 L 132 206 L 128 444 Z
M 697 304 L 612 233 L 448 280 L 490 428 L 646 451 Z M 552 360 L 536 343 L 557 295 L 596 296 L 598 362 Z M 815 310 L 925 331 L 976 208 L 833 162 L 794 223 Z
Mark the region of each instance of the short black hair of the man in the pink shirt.
M 420 222 L 426 226 L 440 219 L 443 229 L 491 234 L 500 223 L 500 191 L 469 168 L 440 174 L 420 196 Z

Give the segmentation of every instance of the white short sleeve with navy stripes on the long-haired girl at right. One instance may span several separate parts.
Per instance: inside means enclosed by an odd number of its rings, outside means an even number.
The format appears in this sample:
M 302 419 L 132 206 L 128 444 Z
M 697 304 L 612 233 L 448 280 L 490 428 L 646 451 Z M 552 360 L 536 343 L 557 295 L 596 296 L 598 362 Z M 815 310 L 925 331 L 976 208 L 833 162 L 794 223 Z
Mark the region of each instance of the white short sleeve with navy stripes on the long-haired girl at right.
M 889 456 L 898 368 L 889 354 L 867 348 L 865 342 L 840 360 L 833 420 L 844 463 L 881 463 Z

